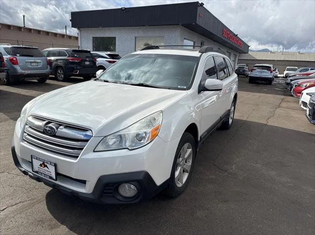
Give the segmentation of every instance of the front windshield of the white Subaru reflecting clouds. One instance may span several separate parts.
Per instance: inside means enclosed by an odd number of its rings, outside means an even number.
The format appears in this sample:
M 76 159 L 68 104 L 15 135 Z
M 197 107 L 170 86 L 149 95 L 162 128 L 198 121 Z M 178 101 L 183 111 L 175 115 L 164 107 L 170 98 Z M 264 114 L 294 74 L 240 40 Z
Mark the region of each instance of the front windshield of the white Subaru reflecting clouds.
M 173 54 L 129 54 L 97 80 L 117 83 L 145 83 L 159 88 L 186 90 L 199 57 Z

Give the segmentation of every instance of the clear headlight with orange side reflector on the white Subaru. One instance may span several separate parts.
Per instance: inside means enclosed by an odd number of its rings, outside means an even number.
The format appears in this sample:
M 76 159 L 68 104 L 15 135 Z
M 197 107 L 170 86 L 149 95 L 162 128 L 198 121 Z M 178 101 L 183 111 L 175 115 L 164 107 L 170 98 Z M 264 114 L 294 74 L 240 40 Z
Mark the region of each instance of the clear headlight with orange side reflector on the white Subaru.
M 132 150 L 147 145 L 158 136 L 162 116 L 162 111 L 158 111 L 121 131 L 105 136 L 94 151 Z

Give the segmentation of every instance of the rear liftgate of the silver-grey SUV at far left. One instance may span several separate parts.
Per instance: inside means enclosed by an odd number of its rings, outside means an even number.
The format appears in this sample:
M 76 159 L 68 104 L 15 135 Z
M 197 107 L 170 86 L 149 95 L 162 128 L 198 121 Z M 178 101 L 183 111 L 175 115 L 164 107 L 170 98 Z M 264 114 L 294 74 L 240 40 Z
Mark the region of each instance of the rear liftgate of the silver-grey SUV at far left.
M 25 71 L 46 70 L 47 61 L 42 52 L 35 47 L 11 47 L 10 55 L 18 60 L 19 67 Z

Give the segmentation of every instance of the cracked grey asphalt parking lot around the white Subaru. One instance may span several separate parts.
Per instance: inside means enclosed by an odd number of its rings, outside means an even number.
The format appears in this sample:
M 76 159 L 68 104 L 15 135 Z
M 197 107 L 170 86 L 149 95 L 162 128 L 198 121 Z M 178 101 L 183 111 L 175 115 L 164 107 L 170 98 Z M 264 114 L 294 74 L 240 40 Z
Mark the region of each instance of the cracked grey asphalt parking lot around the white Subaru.
M 66 196 L 24 176 L 11 157 L 24 104 L 83 79 L 0 86 L 0 234 L 315 234 L 315 126 L 282 79 L 247 80 L 239 78 L 233 127 L 204 142 L 186 192 L 124 206 Z

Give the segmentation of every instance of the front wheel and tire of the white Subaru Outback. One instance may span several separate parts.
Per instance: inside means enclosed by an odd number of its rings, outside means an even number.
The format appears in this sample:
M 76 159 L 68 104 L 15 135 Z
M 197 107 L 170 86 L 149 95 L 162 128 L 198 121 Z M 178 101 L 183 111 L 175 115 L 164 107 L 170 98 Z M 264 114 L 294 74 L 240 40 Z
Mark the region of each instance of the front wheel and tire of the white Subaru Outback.
M 169 184 L 165 189 L 169 197 L 178 197 L 187 188 L 195 157 L 195 140 L 190 133 L 184 132 L 176 150 Z

